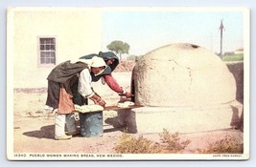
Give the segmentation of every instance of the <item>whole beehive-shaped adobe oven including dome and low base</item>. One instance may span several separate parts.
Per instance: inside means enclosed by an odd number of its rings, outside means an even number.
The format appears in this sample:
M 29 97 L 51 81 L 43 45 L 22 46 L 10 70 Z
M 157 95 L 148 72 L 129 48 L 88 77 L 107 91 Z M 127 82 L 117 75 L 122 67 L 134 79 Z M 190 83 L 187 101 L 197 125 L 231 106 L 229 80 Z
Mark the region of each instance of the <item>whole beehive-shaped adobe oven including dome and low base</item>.
M 195 133 L 239 126 L 232 73 L 214 53 L 172 44 L 143 55 L 131 76 L 133 101 L 145 107 L 118 112 L 131 133 Z

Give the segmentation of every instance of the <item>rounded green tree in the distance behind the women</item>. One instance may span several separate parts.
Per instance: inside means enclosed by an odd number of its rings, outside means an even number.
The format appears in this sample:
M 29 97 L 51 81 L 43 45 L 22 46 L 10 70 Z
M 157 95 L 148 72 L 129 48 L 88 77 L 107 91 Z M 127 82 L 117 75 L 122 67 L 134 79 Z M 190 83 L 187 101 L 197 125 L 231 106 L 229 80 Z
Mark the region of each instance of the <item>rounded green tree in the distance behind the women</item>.
M 123 41 L 112 41 L 109 45 L 106 46 L 109 51 L 115 52 L 120 55 L 120 59 L 122 59 L 123 53 L 128 53 L 129 45 Z

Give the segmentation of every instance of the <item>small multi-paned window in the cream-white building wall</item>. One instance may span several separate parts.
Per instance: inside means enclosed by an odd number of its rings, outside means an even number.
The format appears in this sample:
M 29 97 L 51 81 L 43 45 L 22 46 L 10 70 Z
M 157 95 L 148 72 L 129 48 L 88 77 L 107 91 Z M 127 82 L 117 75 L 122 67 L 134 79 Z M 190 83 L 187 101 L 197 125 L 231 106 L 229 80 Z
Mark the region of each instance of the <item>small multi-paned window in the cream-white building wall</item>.
M 40 37 L 40 64 L 56 64 L 56 38 Z

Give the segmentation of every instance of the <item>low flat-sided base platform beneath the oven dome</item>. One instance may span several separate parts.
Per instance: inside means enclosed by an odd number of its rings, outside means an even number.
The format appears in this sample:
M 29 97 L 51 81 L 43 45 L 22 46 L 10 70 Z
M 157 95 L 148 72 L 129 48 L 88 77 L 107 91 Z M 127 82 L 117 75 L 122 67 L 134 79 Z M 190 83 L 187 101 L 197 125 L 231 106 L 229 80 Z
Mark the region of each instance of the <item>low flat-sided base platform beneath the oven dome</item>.
M 141 107 L 118 111 L 128 133 L 199 133 L 243 128 L 243 104 L 238 101 L 204 107 Z

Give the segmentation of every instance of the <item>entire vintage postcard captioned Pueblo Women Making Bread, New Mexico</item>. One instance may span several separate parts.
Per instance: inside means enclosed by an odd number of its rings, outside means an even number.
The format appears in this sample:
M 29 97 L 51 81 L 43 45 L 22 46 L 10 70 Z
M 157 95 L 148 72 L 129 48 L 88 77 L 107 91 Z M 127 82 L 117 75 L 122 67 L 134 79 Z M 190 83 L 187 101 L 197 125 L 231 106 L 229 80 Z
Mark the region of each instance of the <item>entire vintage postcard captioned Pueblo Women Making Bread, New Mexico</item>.
M 8 159 L 248 159 L 249 12 L 7 9 Z

